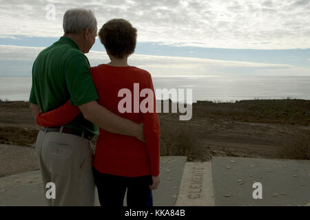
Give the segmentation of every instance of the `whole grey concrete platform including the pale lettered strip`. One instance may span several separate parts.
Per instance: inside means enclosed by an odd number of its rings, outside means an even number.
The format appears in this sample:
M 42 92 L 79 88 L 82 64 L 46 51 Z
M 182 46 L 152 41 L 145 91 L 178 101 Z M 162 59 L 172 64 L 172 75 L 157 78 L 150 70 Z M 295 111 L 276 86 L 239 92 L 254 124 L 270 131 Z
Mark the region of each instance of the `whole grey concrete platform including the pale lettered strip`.
M 262 199 L 253 197 L 254 182 L 262 184 Z M 0 206 L 45 206 L 42 187 L 39 170 L 2 177 Z M 310 161 L 161 157 L 161 184 L 153 195 L 154 206 L 310 206 Z

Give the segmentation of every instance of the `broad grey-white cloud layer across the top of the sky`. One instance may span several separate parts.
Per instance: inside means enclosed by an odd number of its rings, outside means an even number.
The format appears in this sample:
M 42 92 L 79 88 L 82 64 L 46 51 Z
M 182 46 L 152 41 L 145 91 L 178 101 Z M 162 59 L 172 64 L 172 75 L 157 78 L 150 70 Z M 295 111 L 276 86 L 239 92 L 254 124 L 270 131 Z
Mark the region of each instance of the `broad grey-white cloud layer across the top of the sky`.
M 0 0 L 0 37 L 61 36 L 69 8 L 94 11 L 99 28 L 112 18 L 128 19 L 138 41 L 198 47 L 310 48 L 309 1 L 33 1 Z M 46 5 L 55 5 L 55 20 Z

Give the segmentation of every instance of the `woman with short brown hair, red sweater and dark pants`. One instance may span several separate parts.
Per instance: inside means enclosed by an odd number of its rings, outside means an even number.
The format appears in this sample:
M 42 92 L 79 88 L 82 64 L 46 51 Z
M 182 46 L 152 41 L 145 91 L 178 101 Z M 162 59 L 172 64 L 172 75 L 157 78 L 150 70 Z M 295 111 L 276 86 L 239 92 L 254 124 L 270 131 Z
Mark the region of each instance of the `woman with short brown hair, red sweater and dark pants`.
M 101 206 L 123 206 L 127 189 L 127 206 L 149 207 L 153 204 L 152 190 L 158 188 L 159 184 L 160 143 L 152 77 L 147 71 L 127 63 L 128 56 L 134 53 L 136 47 L 136 28 L 128 21 L 108 21 L 99 31 L 99 37 L 111 60 L 110 63 L 91 68 L 99 104 L 124 118 L 143 122 L 146 140 L 145 144 L 135 137 L 99 129 L 100 135 L 92 163 L 99 200 Z M 151 100 L 147 102 L 147 107 L 145 102 L 141 102 L 146 98 L 136 96 L 137 85 L 140 91 L 152 91 L 147 93 L 148 100 Z M 124 91 L 130 92 L 132 96 Z M 127 94 L 125 98 L 124 94 Z M 148 112 L 141 110 L 142 103 L 148 108 Z M 138 113 L 137 109 L 140 109 Z M 73 120 L 78 113 L 79 108 L 70 105 L 68 101 L 59 109 L 39 113 L 37 124 L 59 126 Z

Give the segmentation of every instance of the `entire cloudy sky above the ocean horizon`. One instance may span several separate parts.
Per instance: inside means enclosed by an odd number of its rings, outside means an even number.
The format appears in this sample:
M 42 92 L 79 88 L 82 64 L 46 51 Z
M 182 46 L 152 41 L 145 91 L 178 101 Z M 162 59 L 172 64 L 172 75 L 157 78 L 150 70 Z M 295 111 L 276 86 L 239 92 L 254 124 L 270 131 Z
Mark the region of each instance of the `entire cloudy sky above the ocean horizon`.
M 31 76 L 70 8 L 92 10 L 98 28 L 130 21 L 138 43 L 129 63 L 152 76 L 310 76 L 310 0 L 0 0 L 0 76 Z M 99 39 L 86 55 L 108 62 Z

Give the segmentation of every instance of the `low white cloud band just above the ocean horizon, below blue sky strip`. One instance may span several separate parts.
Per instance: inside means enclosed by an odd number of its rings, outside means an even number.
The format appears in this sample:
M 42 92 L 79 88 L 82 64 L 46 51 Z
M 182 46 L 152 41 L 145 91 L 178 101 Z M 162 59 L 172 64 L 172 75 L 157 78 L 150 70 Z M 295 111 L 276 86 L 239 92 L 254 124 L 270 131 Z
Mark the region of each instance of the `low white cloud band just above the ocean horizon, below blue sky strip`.
M 0 76 L 31 76 L 34 59 L 44 47 L 0 45 Z M 92 66 L 108 63 L 105 52 L 86 54 Z M 310 68 L 293 65 L 220 61 L 207 58 L 133 54 L 130 65 L 146 69 L 152 76 L 310 76 Z

